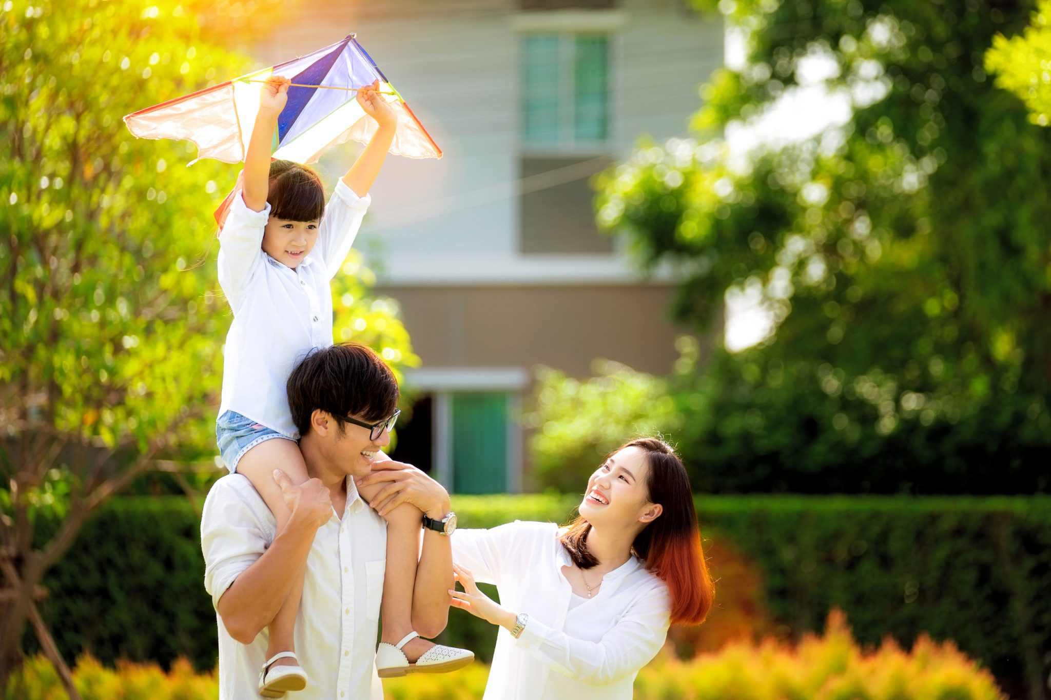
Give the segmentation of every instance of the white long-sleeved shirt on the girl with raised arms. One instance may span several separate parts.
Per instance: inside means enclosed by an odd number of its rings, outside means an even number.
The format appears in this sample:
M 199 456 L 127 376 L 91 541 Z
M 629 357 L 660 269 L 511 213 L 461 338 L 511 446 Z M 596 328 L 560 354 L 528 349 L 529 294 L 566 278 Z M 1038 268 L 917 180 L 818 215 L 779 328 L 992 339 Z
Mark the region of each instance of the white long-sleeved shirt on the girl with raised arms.
M 241 196 L 234 198 L 219 235 L 219 284 L 233 310 L 220 416 L 233 410 L 298 439 L 285 385 L 312 348 L 332 344 L 329 283 L 350 252 L 370 201 L 341 179 L 325 207 L 317 242 L 293 270 L 262 249 L 270 205 L 256 212 Z

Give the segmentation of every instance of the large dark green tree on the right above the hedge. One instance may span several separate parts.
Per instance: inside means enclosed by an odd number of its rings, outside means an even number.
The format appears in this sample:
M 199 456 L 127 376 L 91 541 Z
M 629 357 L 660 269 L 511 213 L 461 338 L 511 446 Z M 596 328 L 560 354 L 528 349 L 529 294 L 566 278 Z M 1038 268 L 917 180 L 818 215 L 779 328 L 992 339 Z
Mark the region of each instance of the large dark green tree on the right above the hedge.
M 674 385 L 698 478 L 1049 488 L 1051 134 L 985 68 L 1031 5 L 718 7 L 744 60 L 712 76 L 692 137 L 643 144 L 598 200 L 644 263 L 680 271 L 680 318 L 707 331 L 750 294 L 771 319 L 764 342 Z M 787 132 L 791 100 L 815 92 L 844 115 Z

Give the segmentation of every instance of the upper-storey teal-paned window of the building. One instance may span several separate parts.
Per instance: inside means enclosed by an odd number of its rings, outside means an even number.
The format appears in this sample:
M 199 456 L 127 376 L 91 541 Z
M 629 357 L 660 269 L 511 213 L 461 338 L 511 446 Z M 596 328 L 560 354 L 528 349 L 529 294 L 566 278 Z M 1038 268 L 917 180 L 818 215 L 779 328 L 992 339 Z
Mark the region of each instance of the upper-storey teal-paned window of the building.
M 521 136 L 527 147 L 604 146 L 610 137 L 610 38 L 522 36 Z

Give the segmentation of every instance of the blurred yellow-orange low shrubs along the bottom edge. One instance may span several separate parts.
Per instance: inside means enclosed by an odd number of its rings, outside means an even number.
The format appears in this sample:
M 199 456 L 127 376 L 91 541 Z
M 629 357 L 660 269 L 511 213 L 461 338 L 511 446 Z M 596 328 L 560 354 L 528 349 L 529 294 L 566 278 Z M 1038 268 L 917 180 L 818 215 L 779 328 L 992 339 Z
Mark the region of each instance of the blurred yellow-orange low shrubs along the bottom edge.
M 384 682 L 388 700 L 475 700 L 489 667 L 474 663 L 454 674 L 414 675 Z M 177 661 L 165 675 L 156 664 L 122 662 L 116 671 L 82 657 L 74 680 L 84 700 L 194 700 L 219 693 L 214 672 L 194 676 Z M 62 690 L 43 657 L 29 659 L 7 684 L 8 697 L 50 700 Z M 824 635 L 798 645 L 766 639 L 734 643 L 720 652 L 680 661 L 661 654 L 635 680 L 635 697 L 648 700 L 1006 700 L 988 671 L 951 642 L 921 636 L 909 653 L 887 639 L 877 650 L 859 648 L 842 613 L 828 616 Z

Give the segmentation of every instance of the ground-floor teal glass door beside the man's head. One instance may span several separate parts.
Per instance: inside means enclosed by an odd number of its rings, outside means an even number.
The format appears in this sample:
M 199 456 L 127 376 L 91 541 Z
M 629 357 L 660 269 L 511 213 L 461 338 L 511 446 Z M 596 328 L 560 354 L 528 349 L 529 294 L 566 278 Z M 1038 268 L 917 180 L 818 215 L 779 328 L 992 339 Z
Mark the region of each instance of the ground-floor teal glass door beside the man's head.
M 508 490 L 508 395 L 453 394 L 453 491 Z

